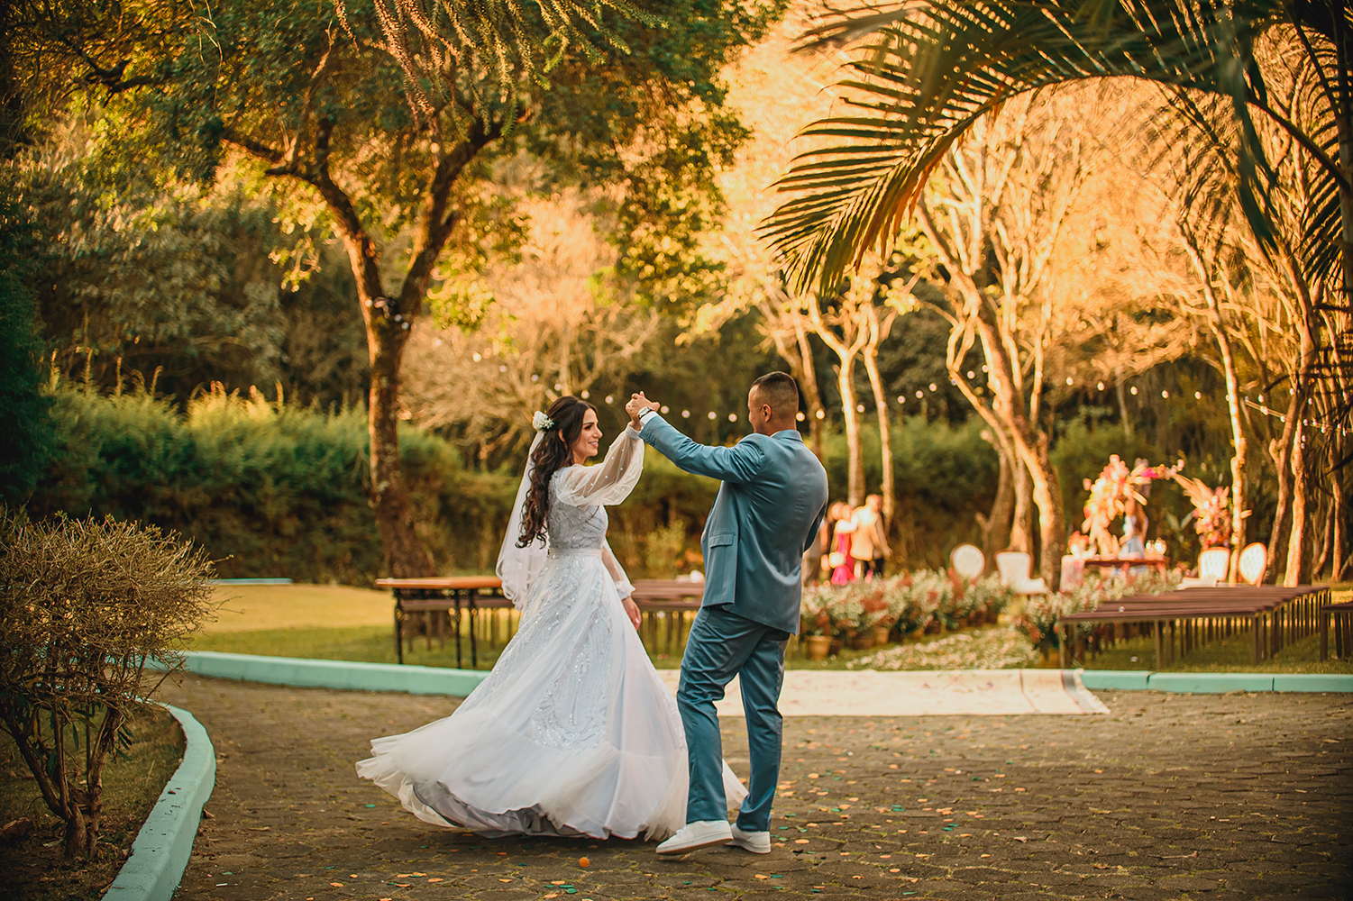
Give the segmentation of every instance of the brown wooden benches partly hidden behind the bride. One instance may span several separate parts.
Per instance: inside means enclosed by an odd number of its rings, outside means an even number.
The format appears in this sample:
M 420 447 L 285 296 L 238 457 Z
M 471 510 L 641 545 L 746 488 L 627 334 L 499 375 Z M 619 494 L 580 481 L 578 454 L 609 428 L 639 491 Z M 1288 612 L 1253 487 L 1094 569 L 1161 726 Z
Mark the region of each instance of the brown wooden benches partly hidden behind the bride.
M 390 588 L 395 597 L 395 659 L 405 662 L 405 639 L 422 634 L 432 640 L 456 643 L 456 667 L 463 664 L 461 614 L 468 613 L 469 666 L 479 668 L 476 614 L 480 610 L 513 609 L 503 597 L 503 583 L 498 576 L 428 576 L 419 579 L 376 579 L 376 586 Z M 641 617 L 641 632 L 648 633 L 649 645 L 659 643 L 659 621 L 667 622 L 667 647 L 679 647 L 685 633 L 686 614 L 700 610 L 705 586 L 701 582 L 640 579 L 635 582 L 635 605 Z M 406 622 L 417 624 L 419 632 L 406 629 Z M 449 629 L 448 629 L 449 626 Z M 509 626 L 510 630 L 510 626 Z M 406 636 L 407 633 L 407 636 Z

